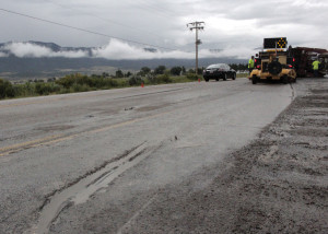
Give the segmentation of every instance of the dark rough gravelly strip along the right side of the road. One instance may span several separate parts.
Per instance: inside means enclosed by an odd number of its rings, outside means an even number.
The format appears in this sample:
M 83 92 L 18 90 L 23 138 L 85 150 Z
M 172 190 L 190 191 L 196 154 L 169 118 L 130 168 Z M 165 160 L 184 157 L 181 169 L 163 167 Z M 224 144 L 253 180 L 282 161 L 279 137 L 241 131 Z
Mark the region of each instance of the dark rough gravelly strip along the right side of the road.
M 297 87 L 290 107 L 229 155 L 212 183 L 186 192 L 215 172 L 207 168 L 167 188 L 125 232 L 328 233 L 328 79 Z

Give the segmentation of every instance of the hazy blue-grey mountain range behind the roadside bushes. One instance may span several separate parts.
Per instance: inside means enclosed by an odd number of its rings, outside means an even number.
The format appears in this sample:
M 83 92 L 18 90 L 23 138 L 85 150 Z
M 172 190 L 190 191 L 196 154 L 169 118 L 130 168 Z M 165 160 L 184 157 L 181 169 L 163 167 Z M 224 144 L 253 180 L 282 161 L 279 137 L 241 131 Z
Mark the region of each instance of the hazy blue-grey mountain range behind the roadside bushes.
M 194 68 L 195 59 L 108 59 L 94 57 L 94 47 L 61 47 L 55 43 L 26 42 L 0 44 L 0 78 L 26 80 L 61 77 L 68 73 L 114 73 L 117 69 L 139 71 L 157 66 Z M 154 48 L 143 48 L 156 52 Z M 235 58 L 201 58 L 199 67 L 211 63 L 246 63 Z

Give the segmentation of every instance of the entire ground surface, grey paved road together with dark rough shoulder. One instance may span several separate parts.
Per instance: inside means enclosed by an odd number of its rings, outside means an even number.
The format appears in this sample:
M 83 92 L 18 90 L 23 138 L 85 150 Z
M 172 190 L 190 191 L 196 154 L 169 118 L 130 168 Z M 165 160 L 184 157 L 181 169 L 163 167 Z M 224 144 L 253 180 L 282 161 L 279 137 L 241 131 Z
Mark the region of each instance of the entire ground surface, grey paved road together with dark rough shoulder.
M 0 102 L 0 231 L 327 233 L 327 81 Z

